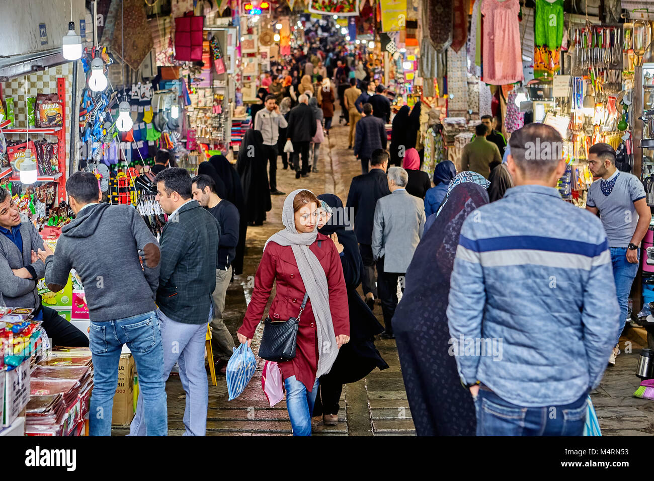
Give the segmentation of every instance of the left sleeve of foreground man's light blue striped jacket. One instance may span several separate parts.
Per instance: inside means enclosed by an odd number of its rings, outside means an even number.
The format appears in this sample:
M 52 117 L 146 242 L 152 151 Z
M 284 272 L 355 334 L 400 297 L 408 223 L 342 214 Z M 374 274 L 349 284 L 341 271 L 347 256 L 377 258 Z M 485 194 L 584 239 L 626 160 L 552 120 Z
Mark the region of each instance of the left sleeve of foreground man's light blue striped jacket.
M 454 348 L 458 374 L 465 384 L 477 382 L 479 356 L 463 355 L 460 340 L 481 338 L 481 321 L 486 291 L 479 249 L 472 233 L 472 216 L 461 228 L 454 270 L 450 280 L 447 323 L 450 332 L 450 352 Z

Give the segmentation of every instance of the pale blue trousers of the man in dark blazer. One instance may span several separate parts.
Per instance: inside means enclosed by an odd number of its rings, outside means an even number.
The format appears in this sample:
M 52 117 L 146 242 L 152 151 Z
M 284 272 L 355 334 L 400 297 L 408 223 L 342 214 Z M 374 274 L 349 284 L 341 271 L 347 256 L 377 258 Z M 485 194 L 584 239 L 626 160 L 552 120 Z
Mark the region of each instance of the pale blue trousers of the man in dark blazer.
M 204 364 L 205 336 L 207 324 L 184 324 L 173 321 L 157 310 L 162 329 L 163 359 L 160 372 L 165 384 L 175 363 L 179 364 L 179 379 L 186 393 L 184 409 L 184 436 L 204 436 L 207 432 L 207 406 L 209 404 L 209 382 Z M 213 309 L 209 319 L 213 317 Z M 207 319 L 207 323 L 209 322 Z M 131 421 L 128 436 L 150 435 L 144 420 L 147 414 L 145 399 L 139 392 L 136 415 Z

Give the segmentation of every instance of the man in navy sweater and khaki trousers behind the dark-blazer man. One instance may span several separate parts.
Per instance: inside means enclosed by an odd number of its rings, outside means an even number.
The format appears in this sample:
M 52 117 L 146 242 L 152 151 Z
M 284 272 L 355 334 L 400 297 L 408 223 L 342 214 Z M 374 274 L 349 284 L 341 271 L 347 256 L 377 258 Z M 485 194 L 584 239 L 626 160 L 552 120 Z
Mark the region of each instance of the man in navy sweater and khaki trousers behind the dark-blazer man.
M 211 347 L 216 360 L 216 372 L 227 372 L 227 361 L 233 353 L 234 338 L 223 322 L 227 288 L 232 280 L 232 260 L 239 243 L 239 211 L 228 200 L 216 193 L 216 184 L 209 175 L 196 175 L 192 179 L 193 198 L 211 212 L 218 221 L 220 239 L 216 258 L 216 289 L 213 294 L 213 319 L 211 320 Z

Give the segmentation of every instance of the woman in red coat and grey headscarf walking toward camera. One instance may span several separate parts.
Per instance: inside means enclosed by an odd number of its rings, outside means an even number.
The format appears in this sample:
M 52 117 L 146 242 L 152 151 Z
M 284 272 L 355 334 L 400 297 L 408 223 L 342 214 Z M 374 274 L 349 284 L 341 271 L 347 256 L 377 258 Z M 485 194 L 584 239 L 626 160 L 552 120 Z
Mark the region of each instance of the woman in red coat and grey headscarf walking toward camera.
M 268 312 L 273 320 L 298 317 L 304 294 L 309 294 L 300 317 L 296 356 L 279 363 L 294 436 L 311 435 L 318 378 L 330 371 L 350 334 L 343 267 L 334 242 L 318 234 L 319 205 L 310 190 L 294 190 L 286 197 L 282 213 L 286 228 L 266 242 L 252 299 L 237 333 L 242 344 L 251 342 L 274 281 L 277 292 Z

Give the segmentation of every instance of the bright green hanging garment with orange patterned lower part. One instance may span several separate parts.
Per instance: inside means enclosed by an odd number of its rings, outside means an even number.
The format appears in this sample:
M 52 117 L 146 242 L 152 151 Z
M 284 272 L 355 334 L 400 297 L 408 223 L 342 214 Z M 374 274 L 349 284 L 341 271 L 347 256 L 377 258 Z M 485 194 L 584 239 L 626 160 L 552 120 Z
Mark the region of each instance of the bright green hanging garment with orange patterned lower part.
M 536 0 L 534 30 L 534 75 L 552 75 L 560 70 L 563 0 Z

